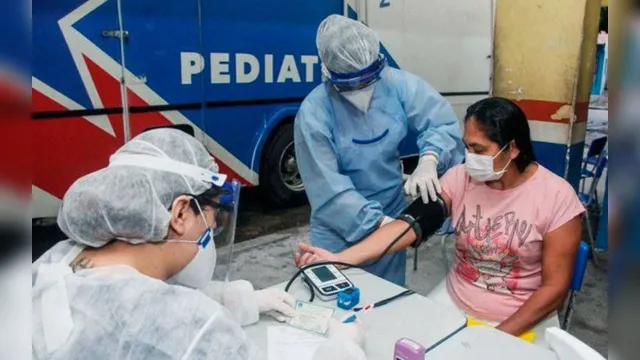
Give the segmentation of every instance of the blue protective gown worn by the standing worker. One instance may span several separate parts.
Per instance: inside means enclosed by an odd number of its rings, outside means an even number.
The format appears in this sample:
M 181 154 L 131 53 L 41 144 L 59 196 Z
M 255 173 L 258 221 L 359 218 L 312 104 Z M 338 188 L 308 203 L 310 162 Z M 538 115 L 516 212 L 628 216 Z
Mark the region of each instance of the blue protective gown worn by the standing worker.
M 459 164 L 464 146 L 451 105 L 429 84 L 386 68 L 369 111 L 356 109 L 329 84 L 316 87 L 295 120 L 298 167 L 311 203 L 311 241 L 339 252 L 371 234 L 383 215 L 404 208 L 399 146 L 411 128 L 420 154 L 440 157 L 439 173 Z M 367 270 L 403 286 L 406 252 Z

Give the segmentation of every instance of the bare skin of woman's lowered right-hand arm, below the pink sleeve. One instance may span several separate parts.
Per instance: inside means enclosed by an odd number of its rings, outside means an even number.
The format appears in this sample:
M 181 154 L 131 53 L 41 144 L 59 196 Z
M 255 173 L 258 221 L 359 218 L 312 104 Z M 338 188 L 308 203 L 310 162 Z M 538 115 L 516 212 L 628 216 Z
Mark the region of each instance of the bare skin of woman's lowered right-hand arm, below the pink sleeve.
M 497 329 L 519 336 L 557 310 L 564 300 L 582 235 L 582 219 L 576 216 L 543 238 L 542 285 Z

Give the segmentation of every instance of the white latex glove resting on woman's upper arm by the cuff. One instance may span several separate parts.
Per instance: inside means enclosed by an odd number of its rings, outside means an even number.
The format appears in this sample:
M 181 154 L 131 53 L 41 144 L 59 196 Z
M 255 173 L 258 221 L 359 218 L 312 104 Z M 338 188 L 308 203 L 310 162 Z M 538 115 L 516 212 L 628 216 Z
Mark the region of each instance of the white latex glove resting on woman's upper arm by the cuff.
M 422 201 L 426 204 L 438 199 L 437 194 L 442 191 L 438 180 L 438 159 L 431 154 L 426 154 L 418 161 L 418 167 L 404 183 L 404 192 L 412 198 L 418 197 L 418 192 L 422 196 Z

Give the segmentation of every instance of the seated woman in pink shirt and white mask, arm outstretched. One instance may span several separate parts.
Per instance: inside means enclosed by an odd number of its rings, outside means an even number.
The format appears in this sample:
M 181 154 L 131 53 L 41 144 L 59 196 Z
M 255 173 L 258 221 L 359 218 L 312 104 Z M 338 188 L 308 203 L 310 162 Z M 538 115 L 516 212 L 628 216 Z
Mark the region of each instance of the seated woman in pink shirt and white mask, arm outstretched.
M 503 98 L 469 107 L 465 163 L 441 179 L 455 225 L 456 252 L 446 280 L 428 295 L 498 329 L 520 335 L 559 326 L 582 235 L 584 207 L 563 178 L 536 162 L 524 112 Z M 339 253 L 301 244 L 298 265 L 376 259 L 407 227 L 393 221 Z M 391 251 L 416 240 L 409 231 Z

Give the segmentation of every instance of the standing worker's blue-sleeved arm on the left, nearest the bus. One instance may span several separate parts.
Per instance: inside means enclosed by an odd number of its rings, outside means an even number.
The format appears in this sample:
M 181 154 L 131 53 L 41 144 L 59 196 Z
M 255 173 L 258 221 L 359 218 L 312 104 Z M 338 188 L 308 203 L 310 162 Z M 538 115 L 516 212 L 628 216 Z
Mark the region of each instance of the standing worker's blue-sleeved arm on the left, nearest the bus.
M 298 168 L 314 216 L 347 242 L 357 242 L 373 232 L 383 216 L 382 205 L 356 191 L 351 179 L 340 173 L 338 156 L 321 106 L 304 102 L 298 111 L 294 140 Z

